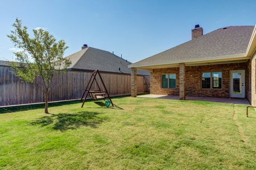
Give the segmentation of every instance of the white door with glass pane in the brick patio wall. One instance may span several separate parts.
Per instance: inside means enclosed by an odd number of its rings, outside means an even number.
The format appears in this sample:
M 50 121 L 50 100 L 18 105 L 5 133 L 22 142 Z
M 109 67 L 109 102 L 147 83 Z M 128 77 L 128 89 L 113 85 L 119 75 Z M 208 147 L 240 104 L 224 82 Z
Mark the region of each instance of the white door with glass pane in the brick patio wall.
M 230 97 L 245 97 L 244 70 L 230 71 Z

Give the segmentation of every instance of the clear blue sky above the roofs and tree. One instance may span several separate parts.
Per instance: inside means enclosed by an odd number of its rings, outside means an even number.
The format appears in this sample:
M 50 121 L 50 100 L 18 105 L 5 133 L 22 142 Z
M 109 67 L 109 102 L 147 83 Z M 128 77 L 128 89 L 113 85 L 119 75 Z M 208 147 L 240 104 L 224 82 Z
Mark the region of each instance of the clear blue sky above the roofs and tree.
M 29 30 L 42 27 L 69 46 L 83 44 L 123 54 L 131 62 L 191 39 L 199 24 L 204 34 L 226 26 L 255 25 L 256 1 L 12 1 L 1 0 L 0 60 L 13 60 L 9 38 L 18 17 Z

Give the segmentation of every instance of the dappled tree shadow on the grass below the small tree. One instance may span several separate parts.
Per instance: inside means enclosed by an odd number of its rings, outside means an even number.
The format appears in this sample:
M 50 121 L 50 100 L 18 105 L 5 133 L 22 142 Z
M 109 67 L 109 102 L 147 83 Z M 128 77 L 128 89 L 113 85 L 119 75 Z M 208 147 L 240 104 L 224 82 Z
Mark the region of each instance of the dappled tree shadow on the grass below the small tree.
M 77 129 L 80 126 L 89 126 L 97 128 L 107 117 L 100 117 L 101 113 L 80 111 L 76 114 L 58 114 L 52 116 L 43 116 L 31 122 L 31 125 L 53 125 L 53 129 L 67 131 L 68 129 Z

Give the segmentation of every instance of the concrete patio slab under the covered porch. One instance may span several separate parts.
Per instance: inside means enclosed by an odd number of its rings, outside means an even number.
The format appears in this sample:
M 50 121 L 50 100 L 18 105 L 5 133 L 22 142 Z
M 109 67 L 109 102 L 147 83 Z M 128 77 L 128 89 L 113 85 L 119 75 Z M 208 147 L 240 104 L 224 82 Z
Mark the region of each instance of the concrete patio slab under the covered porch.
M 138 95 L 138 98 L 154 98 L 154 99 L 174 99 L 179 100 L 177 95 L 160 95 L 160 94 L 145 94 Z M 196 96 L 186 96 L 186 100 L 198 100 L 209 102 L 233 103 L 233 104 L 250 104 L 247 99 L 231 99 L 231 98 L 205 98 Z

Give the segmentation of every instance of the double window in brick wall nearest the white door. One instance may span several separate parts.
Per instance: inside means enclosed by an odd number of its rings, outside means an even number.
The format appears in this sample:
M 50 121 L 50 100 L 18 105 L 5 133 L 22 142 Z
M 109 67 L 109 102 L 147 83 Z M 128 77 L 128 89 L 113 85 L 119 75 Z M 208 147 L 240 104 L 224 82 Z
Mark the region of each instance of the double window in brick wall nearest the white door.
M 222 88 L 222 72 L 203 72 L 202 88 L 221 89 Z

